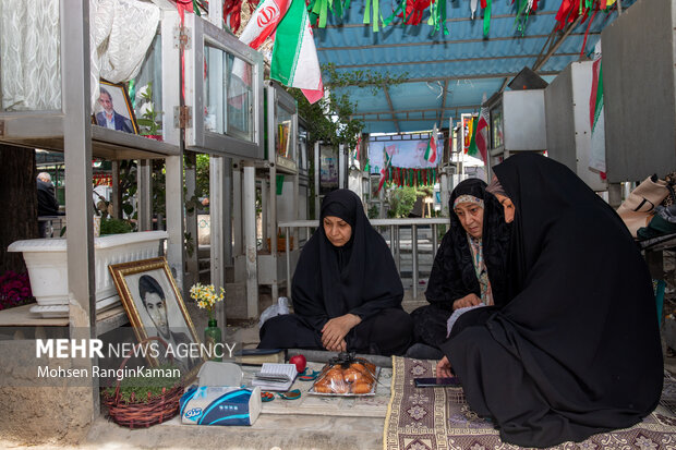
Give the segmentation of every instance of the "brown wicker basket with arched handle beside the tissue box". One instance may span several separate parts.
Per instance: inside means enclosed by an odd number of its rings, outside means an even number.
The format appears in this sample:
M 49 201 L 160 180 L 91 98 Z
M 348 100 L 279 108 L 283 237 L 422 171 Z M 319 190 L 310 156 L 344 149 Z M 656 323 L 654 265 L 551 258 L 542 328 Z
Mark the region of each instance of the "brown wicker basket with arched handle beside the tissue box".
M 159 337 L 150 337 L 145 339 L 143 343 L 157 340 L 167 346 L 167 343 Z M 133 354 L 134 352 L 132 352 Z M 123 369 L 126 362 L 131 357 L 128 356 L 122 361 L 120 369 Z M 181 381 L 177 381 L 177 385 L 170 389 L 162 389 L 160 396 L 154 397 L 146 401 L 138 399 L 135 402 L 128 402 L 121 399 L 120 396 L 120 380 L 118 380 L 114 394 L 110 396 L 105 390 L 101 392 L 101 401 L 108 406 L 108 415 L 118 425 L 122 425 L 129 428 L 147 428 L 150 425 L 161 424 L 170 418 L 174 417 L 179 413 L 179 400 L 183 394 L 183 386 Z

